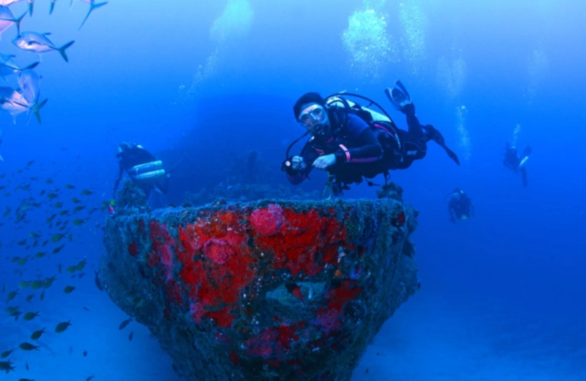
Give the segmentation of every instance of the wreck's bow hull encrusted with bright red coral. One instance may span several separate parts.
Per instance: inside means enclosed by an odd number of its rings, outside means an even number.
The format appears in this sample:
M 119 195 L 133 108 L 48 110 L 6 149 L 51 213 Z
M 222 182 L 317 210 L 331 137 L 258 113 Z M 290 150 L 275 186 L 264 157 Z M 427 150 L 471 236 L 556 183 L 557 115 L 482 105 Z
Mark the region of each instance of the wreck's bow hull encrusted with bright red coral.
M 395 200 L 117 215 L 101 279 L 188 380 L 350 380 L 415 292 L 415 224 Z

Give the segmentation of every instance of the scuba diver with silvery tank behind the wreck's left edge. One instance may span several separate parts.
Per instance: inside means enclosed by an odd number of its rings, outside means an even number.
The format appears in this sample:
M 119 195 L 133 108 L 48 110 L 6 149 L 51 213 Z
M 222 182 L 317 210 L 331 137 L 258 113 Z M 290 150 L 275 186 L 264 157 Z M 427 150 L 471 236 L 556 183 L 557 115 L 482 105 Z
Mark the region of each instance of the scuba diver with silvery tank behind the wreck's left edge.
M 114 196 L 124 172 L 132 182 L 144 191 L 148 198 L 150 190 L 166 194 L 169 189 L 169 174 L 163 169 L 163 163 L 141 145 L 123 141 L 120 143 L 116 157 L 119 159 L 119 172 L 114 184 Z

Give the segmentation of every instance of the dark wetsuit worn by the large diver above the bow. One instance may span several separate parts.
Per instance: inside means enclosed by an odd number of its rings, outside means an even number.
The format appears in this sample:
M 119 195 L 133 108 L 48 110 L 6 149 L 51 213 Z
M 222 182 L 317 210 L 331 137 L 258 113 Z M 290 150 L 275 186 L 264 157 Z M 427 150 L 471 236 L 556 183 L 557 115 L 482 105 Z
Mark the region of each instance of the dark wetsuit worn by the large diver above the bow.
M 431 125 L 422 126 L 414 112 L 407 116 L 408 131 L 399 130 L 393 122 L 369 125 L 343 108 L 329 109 L 328 117 L 332 136 L 309 139 L 300 153 L 306 168 L 286 171 L 291 184 L 306 179 L 313 161 L 324 154 L 336 155 L 336 163 L 327 169 L 338 184 L 359 184 L 363 177 L 370 179 L 388 170 L 408 168 L 425 157 L 429 140 L 441 136 Z

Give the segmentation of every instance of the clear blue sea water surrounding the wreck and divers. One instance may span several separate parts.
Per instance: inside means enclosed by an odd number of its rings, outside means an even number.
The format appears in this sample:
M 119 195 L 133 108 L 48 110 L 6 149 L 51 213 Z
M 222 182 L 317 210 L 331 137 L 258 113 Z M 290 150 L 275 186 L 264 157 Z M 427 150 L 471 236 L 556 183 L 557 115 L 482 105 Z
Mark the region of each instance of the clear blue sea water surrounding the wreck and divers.
M 26 6 L 11 8 L 18 16 Z M 288 184 L 279 167 L 303 132 L 292 114 L 301 94 L 347 89 L 387 106 L 383 90 L 400 78 L 417 116 L 444 134 L 462 165 L 430 145 L 424 160 L 391 174 L 420 211 L 413 240 L 422 290 L 387 322 L 353 380 L 586 380 L 583 1 L 126 0 L 95 10 L 78 31 L 88 8 L 76 1 L 69 10 L 60 0 L 49 16 L 49 1 L 36 1 L 21 30 L 51 32 L 57 46 L 76 42 L 69 63 L 51 52 L 35 69 L 40 98 L 49 99 L 42 125 L 0 114 L 0 213 L 11 210 L 0 227 L 0 283 L 9 292 L 21 280 L 57 274 L 59 263 L 88 262 L 83 278 L 59 275 L 44 301 L 26 289 L 8 303 L 40 317 L 14 321 L 2 312 L 0 351 L 33 330 L 74 324 L 44 336 L 38 352 L 15 351 L 9 377 L 177 379 L 145 328 L 117 329 L 126 316 L 93 282 L 104 250 L 99 208 L 110 200 L 121 141 L 189 163 L 180 167 L 186 180 L 159 202 L 226 184 L 232 153 L 250 150 L 261 152 L 266 181 Z M 353 20 L 372 24 L 345 34 Z M 12 45 L 15 35 L 14 26 L 3 33 L 0 52 L 17 55 L 21 67 L 36 62 Z M 370 48 L 365 58 L 348 49 L 350 40 Z M 15 76 L 3 86 L 17 87 Z M 533 148 L 528 188 L 502 165 L 516 128 L 519 148 Z M 300 187 L 321 192 L 324 182 L 314 173 Z M 16 189 L 29 183 L 30 191 Z M 476 216 L 453 225 L 444 197 L 456 186 L 472 197 Z M 19 267 L 10 259 L 40 249 L 17 241 L 56 232 L 46 222 L 54 209 L 39 195 L 55 188 L 62 209 L 76 206 L 71 197 L 87 207 L 67 217 L 73 240 Z M 94 193 L 80 195 L 84 188 Z M 344 197 L 372 198 L 374 189 L 352 186 Z M 16 222 L 15 210 L 35 201 L 42 206 Z M 71 225 L 94 207 L 82 227 Z M 66 295 L 65 285 L 77 289 Z M 5 301 L 1 294 L 3 309 Z

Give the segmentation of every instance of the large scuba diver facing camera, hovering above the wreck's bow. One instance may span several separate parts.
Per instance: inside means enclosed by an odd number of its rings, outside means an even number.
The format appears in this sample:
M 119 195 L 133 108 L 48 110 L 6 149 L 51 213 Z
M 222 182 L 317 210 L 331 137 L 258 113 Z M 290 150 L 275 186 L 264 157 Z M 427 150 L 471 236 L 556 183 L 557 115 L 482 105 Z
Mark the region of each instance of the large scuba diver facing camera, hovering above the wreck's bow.
M 449 157 L 460 165 L 454 152 L 445 145 L 442 134 L 432 125 L 421 125 L 415 116 L 415 105 L 400 81 L 385 90 L 393 106 L 406 115 L 408 131 L 399 130 L 386 111 L 373 100 L 356 94 L 334 94 L 322 98 L 318 93 L 301 96 L 293 106 L 295 119 L 307 130 L 289 145 L 281 169 L 291 184 L 300 184 L 313 168 L 327 170 L 328 181 L 324 191 L 334 195 L 350 189 L 348 184 L 360 184 L 362 178 L 372 179 L 389 170 L 405 169 L 415 160 L 423 159 L 427 142 L 435 141 Z M 377 106 L 381 112 L 343 97 L 353 96 Z M 306 134 L 311 138 L 299 155 L 289 151 Z M 369 185 L 372 184 L 368 181 Z M 329 198 L 328 197 L 328 198 Z

